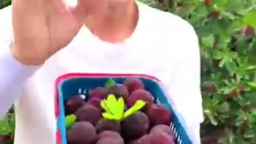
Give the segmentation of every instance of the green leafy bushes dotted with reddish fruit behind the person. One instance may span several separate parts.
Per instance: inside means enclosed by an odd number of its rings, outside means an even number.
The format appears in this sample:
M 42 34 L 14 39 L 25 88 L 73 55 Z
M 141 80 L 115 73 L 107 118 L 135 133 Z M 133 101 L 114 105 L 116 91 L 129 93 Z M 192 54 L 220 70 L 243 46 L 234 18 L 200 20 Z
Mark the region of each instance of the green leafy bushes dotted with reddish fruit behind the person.
M 188 20 L 198 34 L 203 141 L 256 143 L 256 0 L 141 1 Z M 0 0 L 0 9 L 10 4 Z M 11 133 L 12 127 L 10 121 L 0 122 L 0 133 Z

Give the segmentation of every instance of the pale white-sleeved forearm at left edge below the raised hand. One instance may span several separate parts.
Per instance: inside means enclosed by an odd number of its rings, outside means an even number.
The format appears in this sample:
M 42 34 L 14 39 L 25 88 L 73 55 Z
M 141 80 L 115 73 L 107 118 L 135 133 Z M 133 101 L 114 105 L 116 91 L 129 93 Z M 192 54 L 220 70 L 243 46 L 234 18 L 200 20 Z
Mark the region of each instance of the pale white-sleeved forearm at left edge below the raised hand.
M 6 114 L 17 100 L 26 80 L 37 66 L 25 66 L 12 57 L 9 49 L 0 47 L 0 116 Z

